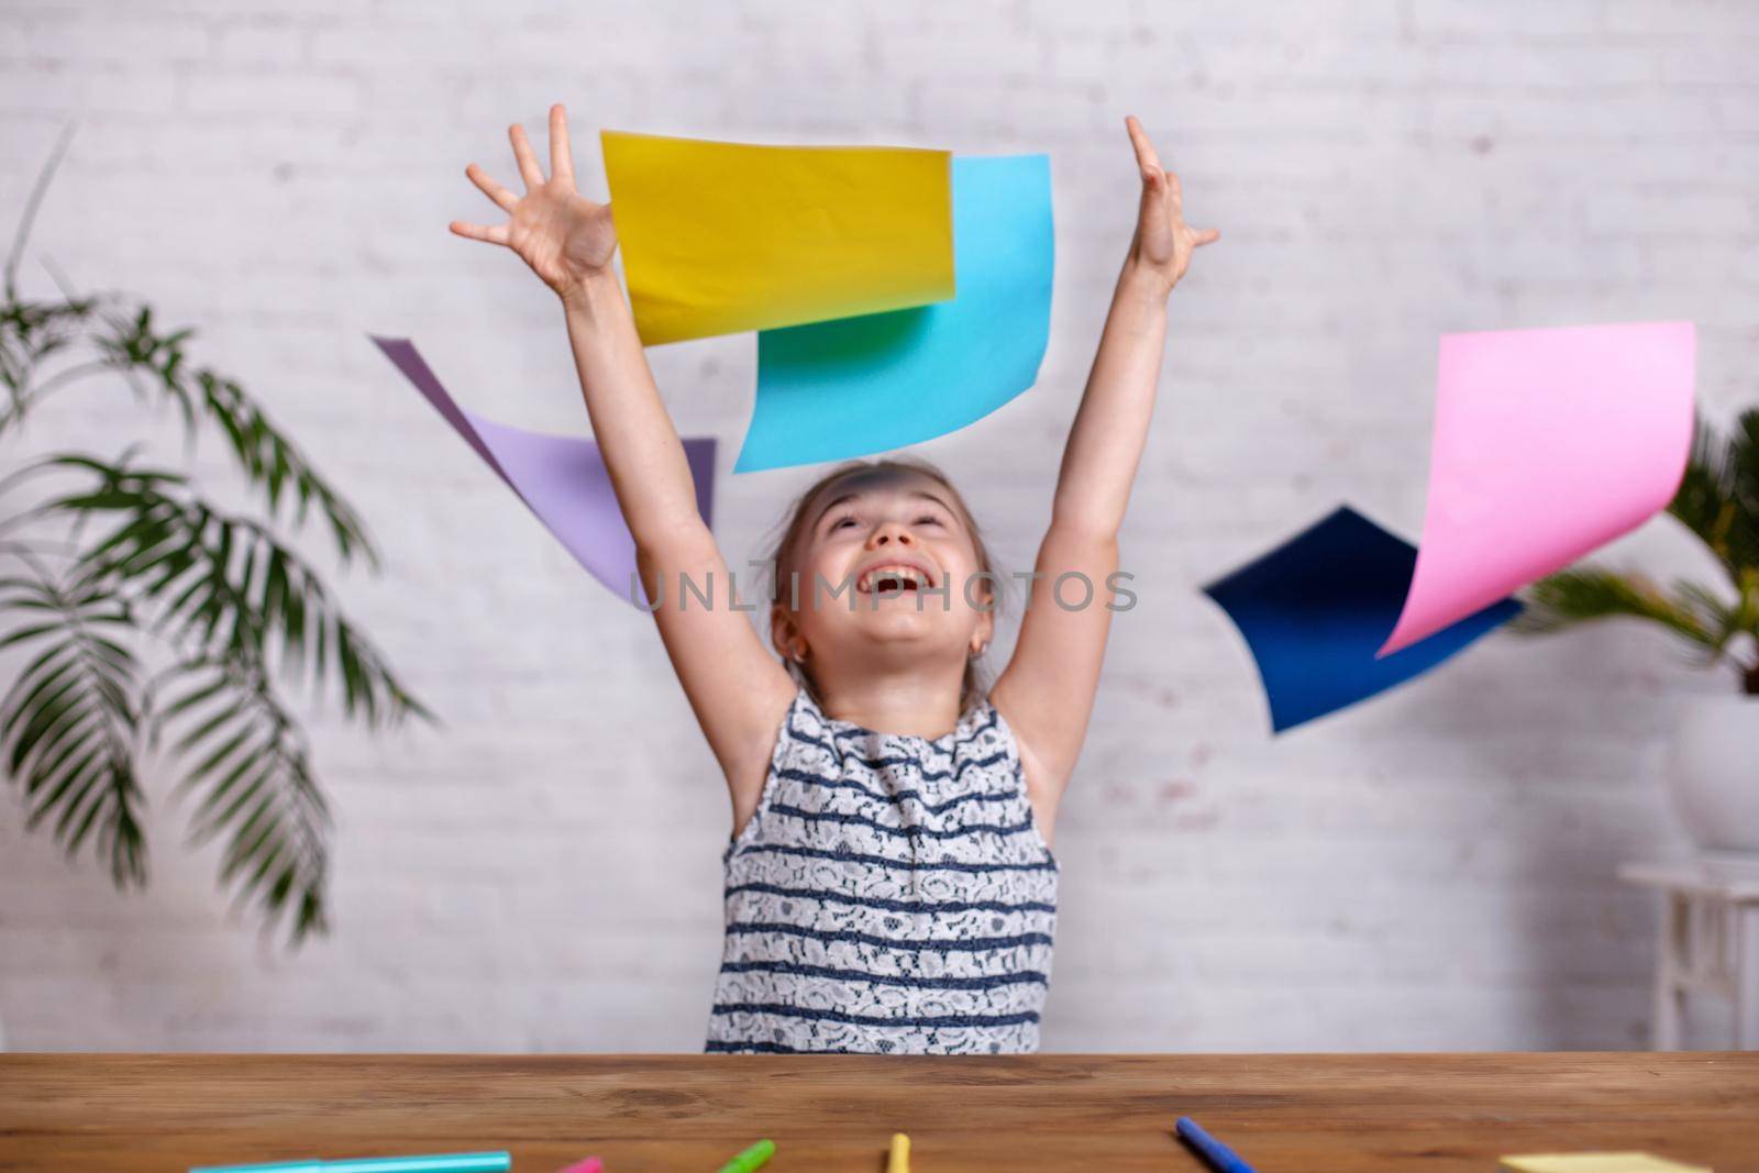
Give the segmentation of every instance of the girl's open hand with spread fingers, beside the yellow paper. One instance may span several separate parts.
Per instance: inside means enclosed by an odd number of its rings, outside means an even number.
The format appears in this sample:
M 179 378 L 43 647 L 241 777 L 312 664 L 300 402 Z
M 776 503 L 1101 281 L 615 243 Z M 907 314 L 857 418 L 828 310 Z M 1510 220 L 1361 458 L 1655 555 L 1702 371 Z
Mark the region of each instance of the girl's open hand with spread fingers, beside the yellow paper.
M 519 176 L 526 185 L 524 197 L 514 195 L 471 164 L 464 167 L 464 174 L 508 213 L 508 220 L 494 227 L 454 220 L 452 230 L 473 241 L 507 244 L 568 301 L 589 278 L 605 273 L 610 255 L 617 251 L 610 204 L 595 204 L 573 190 L 568 118 L 559 102 L 551 107 L 549 179 L 538 167 L 526 128 L 514 123 L 507 134 L 514 141 L 514 158 L 519 160 Z

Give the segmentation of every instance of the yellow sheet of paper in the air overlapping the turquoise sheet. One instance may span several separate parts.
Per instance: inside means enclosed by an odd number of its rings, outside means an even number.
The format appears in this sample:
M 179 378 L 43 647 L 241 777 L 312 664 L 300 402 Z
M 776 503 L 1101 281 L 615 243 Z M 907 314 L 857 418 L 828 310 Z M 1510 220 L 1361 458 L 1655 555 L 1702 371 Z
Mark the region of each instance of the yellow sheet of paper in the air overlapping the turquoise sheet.
M 952 155 L 602 130 L 642 343 L 953 295 Z

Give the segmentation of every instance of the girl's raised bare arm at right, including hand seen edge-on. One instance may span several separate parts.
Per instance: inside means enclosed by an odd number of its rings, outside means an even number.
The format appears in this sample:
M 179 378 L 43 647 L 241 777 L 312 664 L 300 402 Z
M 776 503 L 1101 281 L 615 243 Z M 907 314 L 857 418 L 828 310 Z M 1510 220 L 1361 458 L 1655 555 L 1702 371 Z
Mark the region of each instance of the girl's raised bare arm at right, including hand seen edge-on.
M 1099 686 L 1112 626 L 1110 579 L 1119 568 L 1117 531 L 1154 413 L 1166 346 L 1166 295 L 1184 276 L 1191 253 L 1221 236 L 1186 223 L 1179 176 L 1161 169 L 1142 123 L 1126 118 L 1124 125 L 1142 172 L 1136 234 L 1062 450 L 1050 529 L 1038 549 L 1020 638 L 990 689 L 990 700 L 1020 740 L 1034 820 L 1047 835 L 1087 737 Z

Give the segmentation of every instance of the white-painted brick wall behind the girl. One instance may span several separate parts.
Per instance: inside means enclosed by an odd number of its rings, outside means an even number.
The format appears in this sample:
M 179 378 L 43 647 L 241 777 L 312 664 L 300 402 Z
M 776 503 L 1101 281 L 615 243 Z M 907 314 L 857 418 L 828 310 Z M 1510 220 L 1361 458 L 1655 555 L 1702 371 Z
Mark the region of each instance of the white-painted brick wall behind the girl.
M 223 914 L 164 800 L 151 888 L 118 895 L 7 795 L 7 1043 L 700 1048 L 728 805 L 649 621 L 364 338 L 412 334 L 498 419 L 582 426 L 552 297 L 445 230 L 493 211 L 464 164 L 512 176 L 507 123 L 565 100 L 598 192 L 596 127 L 1052 153 L 1043 378 L 925 445 L 1010 568 L 1129 239 L 1126 113 L 1224 230 L 1173 299 L 1142 603 L 1059 820 L 1047 1048 L 1641 1045 L 1655 909 L 1611 874 L 1683 848 L 1659 753 L 1722 681 L 1632 628 L 1497 637 L 1272 740 L 1196 587 L 1344 498 L 1418 533 L 1441 331 L 1694 318 L 1703 401 L 1759 399 L 1755 60 L 1747 0 L 9 4 L 4 220 L 77 120 L 35 251 L 199 325 L 352 492 L 389 572 L 343 593 L 447 726 L 315 721 L 336 932 L 297 955 Z M 716 528 L 755 552 L 813 470 L 728 473 L 751 338 L 651 361 L 681 429 L 725 440 Z M 69 394 L 32 441 L 120 448 L 118 399 Z M 1666 521 L 1615 554 L 1701 568 Z

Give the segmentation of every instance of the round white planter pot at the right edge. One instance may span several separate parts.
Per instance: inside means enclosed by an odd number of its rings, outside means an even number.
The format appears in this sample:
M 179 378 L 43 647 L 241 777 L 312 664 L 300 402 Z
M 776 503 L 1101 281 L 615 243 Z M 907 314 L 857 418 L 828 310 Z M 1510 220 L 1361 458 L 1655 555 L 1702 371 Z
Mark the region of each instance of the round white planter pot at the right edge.
M 1759 696 L 1694 696 L 1668 746 L 1668 795 L 1704 853 L 1759 863 Z

